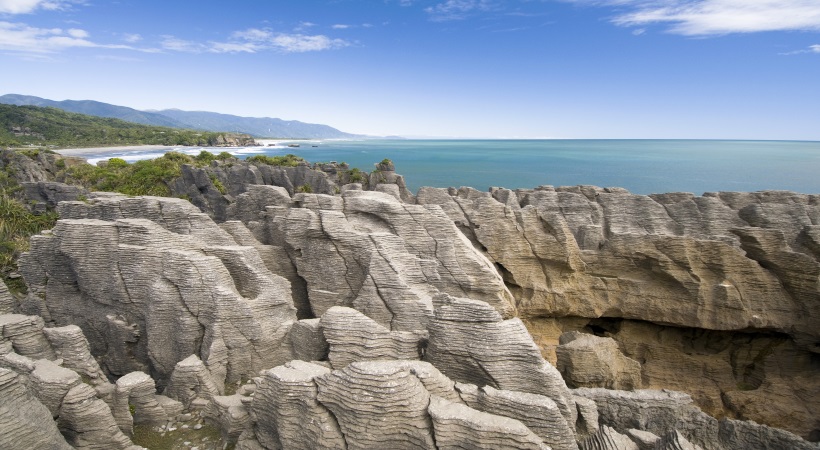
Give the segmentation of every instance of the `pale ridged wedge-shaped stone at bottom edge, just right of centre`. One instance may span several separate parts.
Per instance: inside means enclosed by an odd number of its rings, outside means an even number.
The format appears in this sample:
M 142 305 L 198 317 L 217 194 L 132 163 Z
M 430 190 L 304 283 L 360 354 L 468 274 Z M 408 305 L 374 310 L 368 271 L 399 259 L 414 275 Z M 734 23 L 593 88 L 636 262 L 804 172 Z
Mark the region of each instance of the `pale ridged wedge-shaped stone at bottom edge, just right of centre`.
M 428 408 L 438 449 L 548 450 L 550 447 L 521 422 L 450 402 L 435 395 Z

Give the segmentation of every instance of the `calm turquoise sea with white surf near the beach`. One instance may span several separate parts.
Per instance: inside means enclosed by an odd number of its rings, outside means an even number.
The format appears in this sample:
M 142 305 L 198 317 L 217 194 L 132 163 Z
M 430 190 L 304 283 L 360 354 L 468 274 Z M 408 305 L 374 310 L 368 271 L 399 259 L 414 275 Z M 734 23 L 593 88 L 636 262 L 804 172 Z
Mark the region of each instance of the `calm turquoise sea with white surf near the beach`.
M 361 140 L 293 141 L 298 148 L 209 149 L 240 158 L 293 153 L 371 171 L 393 160 L 408 187 L 539 185 L 622 187 L 636 194 L 791 190 L 820 193 L 820 142 L 729 140 Z M 197 154 L 201 148 L 177 151 Z M 161 152 L 123 153 L 133 161 Z M 110 158 L 87 155 L 90 162 Z

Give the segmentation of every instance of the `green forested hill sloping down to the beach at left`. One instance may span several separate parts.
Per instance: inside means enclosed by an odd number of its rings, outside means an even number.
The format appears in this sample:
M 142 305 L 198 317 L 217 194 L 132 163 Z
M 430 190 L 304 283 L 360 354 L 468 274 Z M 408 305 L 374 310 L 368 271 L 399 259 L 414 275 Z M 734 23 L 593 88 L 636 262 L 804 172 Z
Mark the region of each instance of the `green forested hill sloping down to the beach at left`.
M 253 145 L 250 136 L 139 125 L 56 108 L 0 104 L 0 147 Z

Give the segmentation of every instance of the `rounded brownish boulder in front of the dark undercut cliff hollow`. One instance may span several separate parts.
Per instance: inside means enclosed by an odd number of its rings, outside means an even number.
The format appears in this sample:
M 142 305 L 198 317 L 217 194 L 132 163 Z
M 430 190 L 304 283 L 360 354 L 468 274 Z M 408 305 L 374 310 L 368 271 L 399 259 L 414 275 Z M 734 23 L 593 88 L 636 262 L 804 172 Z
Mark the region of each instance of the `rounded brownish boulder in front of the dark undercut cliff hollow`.
M 568 386 L 640 389 L 640 363 L 624 356 L 614 339 L 573 331 L 560 343 L 557 368 Z

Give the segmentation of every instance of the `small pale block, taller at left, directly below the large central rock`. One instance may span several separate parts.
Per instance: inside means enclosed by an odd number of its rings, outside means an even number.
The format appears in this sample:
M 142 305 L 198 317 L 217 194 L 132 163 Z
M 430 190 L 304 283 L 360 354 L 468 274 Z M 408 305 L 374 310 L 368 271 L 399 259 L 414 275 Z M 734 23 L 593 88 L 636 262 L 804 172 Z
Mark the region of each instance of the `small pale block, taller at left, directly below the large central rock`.
M 322 316 L 321 328 L 330 345 L 334 369 L 355 361 L 420 359 L 423 332 L 390 331 L 352 308 L 334 306 Z

